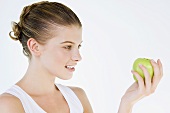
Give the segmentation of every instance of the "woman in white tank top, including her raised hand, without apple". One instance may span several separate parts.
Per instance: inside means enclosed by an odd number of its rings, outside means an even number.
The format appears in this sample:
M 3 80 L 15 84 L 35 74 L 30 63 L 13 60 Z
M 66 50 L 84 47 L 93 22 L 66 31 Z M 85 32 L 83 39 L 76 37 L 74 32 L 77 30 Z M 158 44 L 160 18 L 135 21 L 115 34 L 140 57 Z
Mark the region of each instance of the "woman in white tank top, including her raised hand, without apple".
M 82 24 L 67 6 L 38 2 L 26 6 L 10 37 L 19 40 L 29 59 L 24 77 L 0 96 L 1 113 L 93 113 L 83 89 L 54 83 L 68 80 L 81 60 Z M 153 93 L 162 78 L 160 60 L 151 61 L 154 77 L 140 65 L 145 79 L 132 73 L 138 82 L 122 97 L 118 113 L 131 113 L 133 105 Z

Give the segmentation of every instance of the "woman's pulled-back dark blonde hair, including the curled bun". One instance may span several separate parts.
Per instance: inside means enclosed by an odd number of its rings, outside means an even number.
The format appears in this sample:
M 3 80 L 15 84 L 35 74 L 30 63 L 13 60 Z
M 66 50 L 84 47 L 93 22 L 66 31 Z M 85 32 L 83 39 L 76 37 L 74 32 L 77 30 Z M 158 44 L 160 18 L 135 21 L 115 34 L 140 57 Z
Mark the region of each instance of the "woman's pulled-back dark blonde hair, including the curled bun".
M 52 26 L 71 25 L 82 27 L 79 18 L 69 7 L 57 2 L 42 1 L 23 8 L 20 21 L 12 22 L 12 31 L 9 36 L 21 42 L 24 55 L 31 59 L 31 53 L 27 47 L 29 38 L 45 44 L 51 38 Z

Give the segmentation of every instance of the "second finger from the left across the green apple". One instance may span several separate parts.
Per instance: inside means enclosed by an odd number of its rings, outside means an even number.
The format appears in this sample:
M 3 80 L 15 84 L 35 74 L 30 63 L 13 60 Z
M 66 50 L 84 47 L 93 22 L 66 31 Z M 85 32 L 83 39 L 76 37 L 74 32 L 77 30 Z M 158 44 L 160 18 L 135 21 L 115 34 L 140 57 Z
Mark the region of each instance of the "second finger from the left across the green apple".
M 141 68 L 141 70 L 143 71 L 143 74 L 145 76 L 145 87 L 146 87 L 146 91 L 150 91 L 151 89 L 151 75 L 149 74 L 147 68 L 143 65 L 139 65 L 139 67 Z

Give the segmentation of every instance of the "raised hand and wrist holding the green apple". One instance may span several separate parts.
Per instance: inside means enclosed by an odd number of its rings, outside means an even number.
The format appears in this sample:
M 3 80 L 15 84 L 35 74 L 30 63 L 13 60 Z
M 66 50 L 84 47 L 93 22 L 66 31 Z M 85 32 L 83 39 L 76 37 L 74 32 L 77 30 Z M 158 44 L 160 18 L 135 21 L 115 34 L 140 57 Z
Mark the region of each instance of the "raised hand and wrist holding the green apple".
M 154 93 L 159 81 L 163 76 L 163 68 L 161 61 L 157 62 L 151 60 L 151 64 L 154 68 L 154 76 L 151 79 L 147 69 L 144 66 L 140 66 L 143 70 L 145 79 L 143 79 L 137 72 L 132 71 L 136 76 L 138 82 L 133 83 L 126 91 L 121 99 L 118 113 L 131 113 L 133 105 L 140 99 Z

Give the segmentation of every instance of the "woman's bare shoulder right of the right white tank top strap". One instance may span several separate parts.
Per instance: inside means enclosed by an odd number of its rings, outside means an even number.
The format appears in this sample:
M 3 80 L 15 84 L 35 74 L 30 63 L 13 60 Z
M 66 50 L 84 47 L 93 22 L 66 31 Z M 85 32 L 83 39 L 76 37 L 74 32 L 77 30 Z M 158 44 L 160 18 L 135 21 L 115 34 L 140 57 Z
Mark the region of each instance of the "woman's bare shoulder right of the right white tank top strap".
M 83 105 L 84 108 L 84 113 L 93 113 L 92 107 L 90 105 L 90 102 L 88 100 L 88 97 L 85 93 L 85 91 L 80 88 L 80 87 L 70 87 L 73 90 L 73 92 L 77 95 L 77 97 L 79 98 L 80 102 Z

